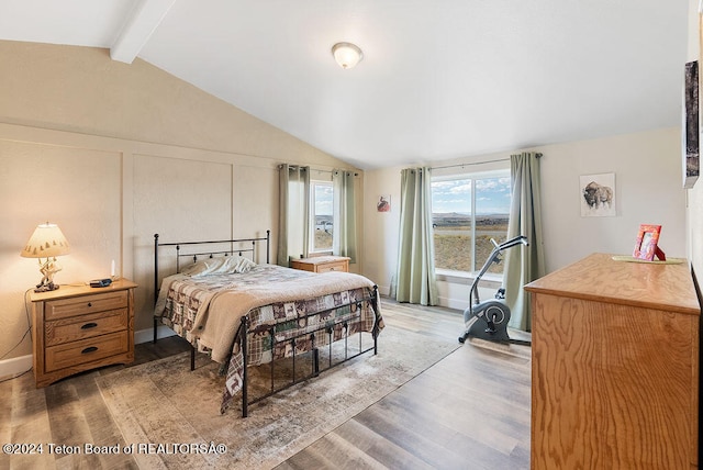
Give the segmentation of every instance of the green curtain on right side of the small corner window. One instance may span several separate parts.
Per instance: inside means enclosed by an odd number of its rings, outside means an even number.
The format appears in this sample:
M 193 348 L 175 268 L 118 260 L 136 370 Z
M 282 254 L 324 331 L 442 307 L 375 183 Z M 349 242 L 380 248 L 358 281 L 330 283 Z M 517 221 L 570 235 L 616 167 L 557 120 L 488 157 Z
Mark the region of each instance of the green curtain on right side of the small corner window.
M 334 231 L 332 253 L 348 256 L 356 262 L 356 200 L 354 194 L 354 171 L 334 170 L 332 187 L 334 192 Z

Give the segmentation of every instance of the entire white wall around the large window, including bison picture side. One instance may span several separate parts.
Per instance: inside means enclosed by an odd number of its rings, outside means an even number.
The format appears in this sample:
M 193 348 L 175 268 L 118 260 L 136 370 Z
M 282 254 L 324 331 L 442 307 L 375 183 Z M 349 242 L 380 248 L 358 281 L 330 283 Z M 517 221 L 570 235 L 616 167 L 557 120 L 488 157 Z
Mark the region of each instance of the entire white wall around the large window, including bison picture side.
M 544 243 L 547 271 L 591 253 L 632 254 L 639 224 L 662 225 L 660 246 L 670 257 L 685 257 L 685 191 L 681 187 L 680 128 L 536 147 L 540 152 Z M 464 161 L 510 157 L 492 154 Z M 460 160 L 459 160 L 460 161 Z M 451 160 L 434 166 L 456 165 Z M 479 170 L 479 167 L 476 167 Z M 365 175 L 365 273 L 387 293 L 398 262 L 400 169 Z M 616 216 L 582 217 L 580 176 L 615 174 Z M 376 212 L 379 194 L 390 193 L 390 213 Z M 440 283 L 440 303 L 466 306 L 468 282 Z M 483 294 L 482 298 L 486 295 Z

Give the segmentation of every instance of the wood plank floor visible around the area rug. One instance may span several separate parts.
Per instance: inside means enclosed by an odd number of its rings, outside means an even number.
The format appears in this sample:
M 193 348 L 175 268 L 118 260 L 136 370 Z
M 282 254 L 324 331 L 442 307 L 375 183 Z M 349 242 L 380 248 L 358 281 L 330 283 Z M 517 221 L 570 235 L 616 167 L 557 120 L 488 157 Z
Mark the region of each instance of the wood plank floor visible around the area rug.
M 460 312 L 384 300 L 387 324 L 456 340 Z M 188 349 L 177 337 L 136 346 L 133 367 Z M 0 441 L 45 443 L 42 455 L 0 454 L 0 468 L 137 468 L 124 455 L 47 451 L 47 443 L 124 445 L 98 387 L 105 367 L 35 389 L 30 373 L 0 383 Z M 466 344 L 277 467 L 288 469 L 529 468 L 529 348 Z M 59 449 L 70 450 L 70 449 Z

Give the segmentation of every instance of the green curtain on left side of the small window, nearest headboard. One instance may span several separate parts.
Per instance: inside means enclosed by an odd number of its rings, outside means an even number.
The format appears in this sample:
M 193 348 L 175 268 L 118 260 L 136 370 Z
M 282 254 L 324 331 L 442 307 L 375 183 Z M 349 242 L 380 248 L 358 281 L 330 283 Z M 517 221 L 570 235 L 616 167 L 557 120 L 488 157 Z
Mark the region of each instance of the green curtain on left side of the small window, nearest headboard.
M 276 262 L 290 266 L 290 257 L 308 257 L 310 239 L 310 167 L 279 166 L 278 255 Z

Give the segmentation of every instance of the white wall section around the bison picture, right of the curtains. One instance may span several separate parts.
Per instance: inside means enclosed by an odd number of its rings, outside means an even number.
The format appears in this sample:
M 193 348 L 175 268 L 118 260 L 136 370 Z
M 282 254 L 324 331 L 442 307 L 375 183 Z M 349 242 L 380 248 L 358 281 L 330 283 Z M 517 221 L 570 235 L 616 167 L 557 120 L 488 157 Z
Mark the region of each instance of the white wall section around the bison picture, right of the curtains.
M 632 254 L 639 224 L 661 224 L 659 246 L 685 257 L 681 130 L 542 147 L 547 270 L 594 251 Z M 614 217 L 581 217 L 579 176 L 615 174 Z

